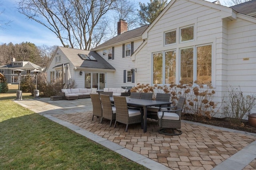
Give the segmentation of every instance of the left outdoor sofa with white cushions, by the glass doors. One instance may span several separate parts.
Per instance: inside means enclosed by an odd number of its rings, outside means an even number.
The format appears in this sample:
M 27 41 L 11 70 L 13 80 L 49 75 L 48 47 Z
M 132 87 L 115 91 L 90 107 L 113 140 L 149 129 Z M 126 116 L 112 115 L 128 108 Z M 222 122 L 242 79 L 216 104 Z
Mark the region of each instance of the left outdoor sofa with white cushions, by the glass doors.
M 61 89 L 60 96 L 63 96 L 63 99 L 74 100 L 81 98 L 90 98 L 90 93 L 98 93 L 97 88 Z

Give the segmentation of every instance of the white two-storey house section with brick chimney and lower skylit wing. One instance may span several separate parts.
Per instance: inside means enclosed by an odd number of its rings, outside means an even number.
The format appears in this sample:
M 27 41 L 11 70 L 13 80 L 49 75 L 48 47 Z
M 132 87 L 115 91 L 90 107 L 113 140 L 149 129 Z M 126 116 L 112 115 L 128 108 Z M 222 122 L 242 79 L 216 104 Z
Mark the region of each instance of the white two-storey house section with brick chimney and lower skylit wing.
M 69 64 L 70 74 L 78 88 L 103 88 L 134 86 L 135 71 L 132 53 L 142 44 L 142 33 L 148 25 L 127 31 L 124 20 L 118 22 L 118 35 L 92 51 L 58 47 L 50 61 L 47 80 L 60 77 L 62 64 Z M 93 56 L 96 61 L 84 59 L 81 55 Z M 82 76 L 80 76 L 80 72 Z

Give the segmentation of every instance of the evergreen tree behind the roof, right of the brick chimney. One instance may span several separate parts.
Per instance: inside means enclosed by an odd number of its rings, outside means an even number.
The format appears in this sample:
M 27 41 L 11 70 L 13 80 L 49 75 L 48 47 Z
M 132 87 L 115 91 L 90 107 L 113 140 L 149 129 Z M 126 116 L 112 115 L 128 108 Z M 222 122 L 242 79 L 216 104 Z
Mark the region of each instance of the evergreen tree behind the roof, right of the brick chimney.
M 167 0 L 150 0 L 150 3 L 147 3 L 147 5 L 139 2 L 140 10 L 138 10 L 138 13 L 140 17 L 140 25 L 152 23 L 166 5 Z

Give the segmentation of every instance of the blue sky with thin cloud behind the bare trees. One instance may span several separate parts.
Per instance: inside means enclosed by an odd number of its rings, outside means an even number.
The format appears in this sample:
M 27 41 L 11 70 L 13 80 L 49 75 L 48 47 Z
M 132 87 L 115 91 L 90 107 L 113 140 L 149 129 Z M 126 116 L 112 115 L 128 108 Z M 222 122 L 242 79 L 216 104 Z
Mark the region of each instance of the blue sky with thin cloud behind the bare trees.
M 214 0 L 208 1 L 213 2 Z M 150 0 L 135 0 L 135 2 L 147 3 Z M 15 3 L 16 0 L 0 0 L 0 11 L 4 10 L 4 13 L 0 15 L 1 22 L 2 20 L 12 21 L 6 29 L 0 29 L 0 44 L 8 44 L 10 42 L 19 44 L 27 41 L 34 43 L 36 46 L 62 46 L 60 40 L 52 31 L 36 21 L 26 19 L 26 16 L 20 14 L 15 8 Z M 220 3 L 224 5 L 224 0 L 220 0 Z

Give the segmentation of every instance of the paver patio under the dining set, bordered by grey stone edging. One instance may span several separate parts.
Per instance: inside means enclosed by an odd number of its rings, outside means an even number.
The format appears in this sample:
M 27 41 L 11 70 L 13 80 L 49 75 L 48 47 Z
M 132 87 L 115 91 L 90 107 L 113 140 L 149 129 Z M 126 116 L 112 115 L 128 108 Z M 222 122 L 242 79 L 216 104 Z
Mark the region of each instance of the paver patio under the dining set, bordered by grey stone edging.
M 159 134 L 157 121 L 152 119 L 148 119 L 146 133 L 140 124 L 129 125 L 128 132 L 125 132 L 123 124 L 117 124 L 114 128 L 114 123 L 109 127 L 110 121 L 106 119 L 100 123 L 100 118 L 95 117 L 92 121 L 90 99 L 48 100 L 16 102 L 36 113 L 52 115 L 72 123 L 174 170 L 210 170 L 256 141 L 256 135 L 230 132 L 225 128 L 189 121 L 182 121 L 183 133 L 179 136 Z M 249 169 L 256 169 L 255 159 L 244 168 Z

